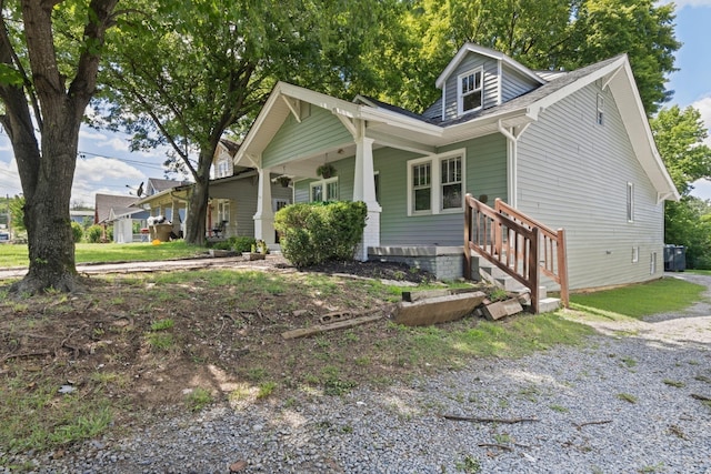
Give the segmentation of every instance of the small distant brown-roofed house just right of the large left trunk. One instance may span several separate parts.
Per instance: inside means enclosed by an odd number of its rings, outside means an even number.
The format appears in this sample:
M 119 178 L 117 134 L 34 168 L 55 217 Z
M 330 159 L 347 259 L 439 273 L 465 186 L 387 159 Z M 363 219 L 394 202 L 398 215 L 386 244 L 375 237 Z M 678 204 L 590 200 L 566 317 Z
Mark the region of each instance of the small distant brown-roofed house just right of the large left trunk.
M 132 195 L 97 194 L 94 198 L 94 224 L 103 228 L 106 240 L 107 225 L 113 225 L 113 242 L 130 243 L 140 241 L 140 234 L 134 233 L 136 226 L 144 228 L 148 211 L 137 206 L 137 198 Z M 136 236 L 134 236 L 136 234 Z

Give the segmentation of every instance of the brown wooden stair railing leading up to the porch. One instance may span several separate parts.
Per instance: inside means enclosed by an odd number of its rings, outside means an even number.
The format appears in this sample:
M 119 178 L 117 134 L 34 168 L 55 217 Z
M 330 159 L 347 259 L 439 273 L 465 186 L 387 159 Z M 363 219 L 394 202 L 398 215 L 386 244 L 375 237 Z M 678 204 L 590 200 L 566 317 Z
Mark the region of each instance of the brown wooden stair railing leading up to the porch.
M 539 312 L 542 272 L 560 285 L 561 301 L 568 300 L 565 233 L 552 231 L 497 199 L 494 209 L 467 194 L 464 205 L 465 275 L 471 278 L 474 251 L 531 292 L 531 305 Z

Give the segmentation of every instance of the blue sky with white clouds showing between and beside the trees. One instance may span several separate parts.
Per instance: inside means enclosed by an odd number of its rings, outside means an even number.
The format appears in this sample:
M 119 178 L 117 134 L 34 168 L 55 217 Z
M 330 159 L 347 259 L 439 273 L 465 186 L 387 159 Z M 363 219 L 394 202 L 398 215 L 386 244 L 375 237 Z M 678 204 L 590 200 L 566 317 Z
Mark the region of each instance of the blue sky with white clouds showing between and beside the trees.
M 677 1 L 677 39 L 683 46 L 677 52 L 678 72 L 668 88 L 674 90 L 670 104 L 697 108 L 711 127 L 711 0 Z M 711 139 L 707 141 L 711 145 Z M 128 194 L 148 178 L 163 178 L 161 163 L 166 150 L 131 153 L 126 137 L 89 128 L 82 129 L 72 186 L 72 204 L 93 206 L 96 193 Z M 129 188 L 127 188 L 129 186 Z M 711 182 L 694 183 L 693 194 L 711 199 Z M 12 148 L 0 129 L 0 195 L 22 192 Z

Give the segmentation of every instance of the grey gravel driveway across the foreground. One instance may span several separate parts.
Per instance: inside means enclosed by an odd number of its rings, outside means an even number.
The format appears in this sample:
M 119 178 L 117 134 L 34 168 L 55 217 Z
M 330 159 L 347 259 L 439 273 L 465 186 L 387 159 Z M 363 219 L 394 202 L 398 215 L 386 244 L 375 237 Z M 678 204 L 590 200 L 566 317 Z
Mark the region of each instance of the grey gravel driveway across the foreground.
M 711 278 L 680 276 L 711 289 Z M 598 324 L 608 335 L 583 347 L 479 360 L 381 391 L 216 407 L 33 462 L 70 473 L 708 474 L 711 406 L 693 395 L 711 396 L 709 314 L 702 303 Z

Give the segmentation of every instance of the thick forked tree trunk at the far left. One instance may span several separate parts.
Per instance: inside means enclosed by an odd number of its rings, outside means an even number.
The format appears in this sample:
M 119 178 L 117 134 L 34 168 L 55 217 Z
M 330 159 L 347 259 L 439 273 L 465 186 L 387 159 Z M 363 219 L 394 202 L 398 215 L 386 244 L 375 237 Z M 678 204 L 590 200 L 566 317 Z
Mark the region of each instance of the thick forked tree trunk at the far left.
M 0 83 L 4 113 L 0 122 L 12 142 L 24 193 L 24 226 L 30 266 L 11 291 L 34 294 L 54 289 L 77 289 L 74 241 L 69 219 L 71 185 L 77 164 L 79 127 L 91 99 L 99 67 L 99 51 L 118 0 L 91 0 L 83 30 L 86 41 L 77 58 L 76 75 L 68 83 L 60 72 L 52 31 L 53 6 L 22 0 L 22 23 L 31 74 L 12 49 L 4 9 L 0 14 L 0 63 L 13 70 L 20 82 Z M 30 114 L 34 113 L 34 123 Z M 41 145 L 34 134 L 39 129 Z

